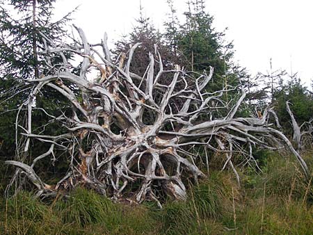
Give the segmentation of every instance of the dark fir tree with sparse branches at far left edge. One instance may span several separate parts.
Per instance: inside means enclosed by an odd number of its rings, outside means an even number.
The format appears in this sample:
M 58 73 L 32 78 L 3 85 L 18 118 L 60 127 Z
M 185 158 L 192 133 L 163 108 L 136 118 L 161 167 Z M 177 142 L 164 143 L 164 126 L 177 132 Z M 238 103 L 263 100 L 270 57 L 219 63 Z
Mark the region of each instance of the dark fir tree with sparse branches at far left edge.
M 24 90 L 26 80 L 49 74 L 50 68 L 43 62 L 45 41 L 42 34 L 56 43 L 61 42 L 66 34 L 65 24 L 70 20 L 70 14 L 53 21 L 55 1 L 0 1 L 0 137 L 4 146 L 1 155 L 15 154 L 15 116 L 17 104 L 29 97 L 29 90 Z M 60 58 L 54 59 L 58 61 Z M 61 99 L 36 97 L 37 108 L 45 106 L 47 111 L 61 103 Z M 8 112 L 10 110 L 13 112 Z M 38 127 L 47 122 L 47 117 L 39 109 L 33 118 L 38 120 L 34 122 Z

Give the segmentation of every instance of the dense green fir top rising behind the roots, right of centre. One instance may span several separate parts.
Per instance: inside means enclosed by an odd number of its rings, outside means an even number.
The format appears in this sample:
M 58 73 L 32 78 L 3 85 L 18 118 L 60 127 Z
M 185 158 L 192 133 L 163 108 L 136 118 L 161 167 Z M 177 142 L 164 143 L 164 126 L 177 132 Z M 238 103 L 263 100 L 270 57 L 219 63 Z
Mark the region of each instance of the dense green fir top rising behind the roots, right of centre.
M 216 74 L 225 74 L 226 63 L 232 54 L 223 52 L 232 49 L 232 44 L 222 44 L 224 34 L 214 30 L 213 17 L 204 12 L 204 5 L 200 1 L 188 2 L 188 11 L 184 15 L 186 23 L 181 26 L 182 31 L 179 32 L 178 47 L 190 63 L 188 68 L 203 71 L 208 70 L 211 65 Z

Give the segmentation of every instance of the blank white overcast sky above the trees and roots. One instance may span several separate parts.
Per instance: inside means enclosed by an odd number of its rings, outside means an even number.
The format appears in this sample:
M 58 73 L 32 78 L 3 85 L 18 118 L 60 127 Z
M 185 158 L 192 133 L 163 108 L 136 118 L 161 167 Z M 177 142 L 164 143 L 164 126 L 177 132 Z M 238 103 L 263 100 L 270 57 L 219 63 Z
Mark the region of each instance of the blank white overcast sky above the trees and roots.
M 186 0 L 175 0 L 179 13 Z M 138 17 L 140 0 L 58 0 L 56 15 L 79 6 L 74 24 L 90 42 L 99 42 L 104 31 L 113 42 L 129 33 Z M 141 0 L 144 13 L 162 29 L 169 9 L 166 0 Z M 218 31 L 226 27 L 226 39 L 234 42 L 235 60 L 252 75 L 269 70 L 298 72 L 310 87 L 313 78 L 312 0 L 207 0 L 207 12 L 214 16 Z

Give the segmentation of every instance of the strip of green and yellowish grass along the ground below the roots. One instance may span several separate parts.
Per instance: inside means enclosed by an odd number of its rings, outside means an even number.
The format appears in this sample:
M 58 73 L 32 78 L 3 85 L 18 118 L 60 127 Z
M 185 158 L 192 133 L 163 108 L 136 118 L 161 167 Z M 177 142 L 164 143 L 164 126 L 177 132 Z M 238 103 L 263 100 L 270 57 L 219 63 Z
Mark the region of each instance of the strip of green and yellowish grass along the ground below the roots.
M 211 170 L 188 190 L 186 202 L 113 203 L 77 188 L 40 201 L 28 192 L 0 202 L 0 234 L 312 234 L 312 154 L 308 176 L 292 157 L 258 156 L 262 172 Z

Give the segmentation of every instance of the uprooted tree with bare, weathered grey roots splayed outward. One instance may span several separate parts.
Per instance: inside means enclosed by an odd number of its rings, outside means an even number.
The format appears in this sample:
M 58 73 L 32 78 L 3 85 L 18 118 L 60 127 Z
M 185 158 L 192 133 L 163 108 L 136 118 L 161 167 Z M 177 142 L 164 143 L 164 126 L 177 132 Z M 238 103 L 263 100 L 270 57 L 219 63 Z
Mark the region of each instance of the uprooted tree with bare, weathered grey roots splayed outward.
M 77 31 L 80 40 L 73 44 L 56 45 L 42 35 L 47 66 L 40 79 L 25 81 L 32 90 L 17 115 L 19 159 L 6 161 L 17 166 L 13 180 L 24 176 L 41 196 L 86 186 L 116 200 L 159 202 L 160 192 L 185 199 L 186 179 L 204 177 L 200 165 L 208 166 L 208 154 L 222 152 L 224 168 L 229 166 L 239 179 L 233 156 L 239 152 L 246 161 L 253 161 L 255 146 L 285 146 L 307 172 L 305 161 L 288 138 L 268 124 L 269 115 L 273 115 L 279 126 L 271 108 L 258 117 L 236 117 L 246 95 L 243 88 L 206 91 L 213 68 L 208 74 L 186 72 L 178 65 L 175 70 L 163 70 L 156 48 L 154 55 L 149 54 L 145 74 L 134 74 L 129 68 L 140 44 L 131 47 L 127 59 L 113 61 L 106 35 L 101 43 L 89 44 L 83 31 Z M 67 53 L 76 54 L 81 63 L 72 65 Z M 63 62 L 52 64 L 56 57 Z M 71 106 L 70 111 L 67 106 L 56 116 L 40 108 L 51 119 L 47 125 L 58 123 L 61 134 L 32 129 L 35 97 L 47 94 L 42 90 L 58 92 Z M 225 102 L 223 95 L 230 91 L 235 95 Z M 38 142 L 48 146 L 47 152 L 27 159 Z M 197 146 L 203 147 L 204 156 L 194 151 Z M 35 165 L 48 158 L 56 161 L 60 150 L 67 153 L 68 170 L 57 184 L 45 184 Z

